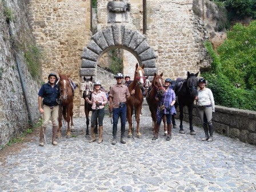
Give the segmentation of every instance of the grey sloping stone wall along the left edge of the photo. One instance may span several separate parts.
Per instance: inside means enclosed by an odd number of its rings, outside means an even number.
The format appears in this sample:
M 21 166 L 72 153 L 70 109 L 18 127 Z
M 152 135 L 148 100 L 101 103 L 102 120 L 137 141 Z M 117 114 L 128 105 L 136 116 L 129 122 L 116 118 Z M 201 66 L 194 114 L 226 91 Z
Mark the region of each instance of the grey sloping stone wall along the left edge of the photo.
M 6 6 L 3 2 L 0 1 L 0 146 L 26 133 L 31 128 L 30 124 L 36 123 L 39 118 L 39 81 L 31 77 L 24 58 L 25 44 L 33 43 L 26 5 L 19 0 L 6 0 Z M 6 7 L 13 12 L 13 21 L 6 22 L 3 14 Z M 27 95 L 27 105 L 22 85 Z

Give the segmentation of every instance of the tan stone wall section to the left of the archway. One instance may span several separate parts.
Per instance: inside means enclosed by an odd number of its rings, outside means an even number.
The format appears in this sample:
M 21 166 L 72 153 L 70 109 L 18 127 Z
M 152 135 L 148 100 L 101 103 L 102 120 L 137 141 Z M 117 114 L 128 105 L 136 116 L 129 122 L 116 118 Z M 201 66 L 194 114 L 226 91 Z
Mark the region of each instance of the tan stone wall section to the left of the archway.
M 42 47 L 43 79 L 51 72 L 71 74 L 80 85 L 82 47 L 90 41 L 90 1 L 29 1 L 29 21 L 37 44 Z M 81 92 L 75 90 L 74 116 L 79 116 Z

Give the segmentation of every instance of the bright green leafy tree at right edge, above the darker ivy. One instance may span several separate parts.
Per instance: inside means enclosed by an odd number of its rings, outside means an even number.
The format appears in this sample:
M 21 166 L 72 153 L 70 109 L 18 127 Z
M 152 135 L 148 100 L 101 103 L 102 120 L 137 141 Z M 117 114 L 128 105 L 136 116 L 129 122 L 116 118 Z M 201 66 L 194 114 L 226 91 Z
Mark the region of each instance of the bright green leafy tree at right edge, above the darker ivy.
M 227 33 L 226 41 L 218 47 L 222 72 L 233 85 L 256 89 L 256 21 L 249 26 L 238 23 Z

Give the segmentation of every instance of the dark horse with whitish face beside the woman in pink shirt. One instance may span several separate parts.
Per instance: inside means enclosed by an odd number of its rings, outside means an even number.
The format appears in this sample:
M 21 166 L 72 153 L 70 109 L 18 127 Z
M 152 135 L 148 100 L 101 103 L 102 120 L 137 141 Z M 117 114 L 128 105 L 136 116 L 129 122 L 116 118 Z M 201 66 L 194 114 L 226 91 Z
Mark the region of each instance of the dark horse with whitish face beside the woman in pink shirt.
M 90 77 L 90 79 L 86 79 L 86 77 L 83 77 L 83 80 L 85 80 L 85 84 L 83 85 L 83 99 L 88 97 L 89 100 L 91 100 L 91 93 L 93 91 L 93 77 Z M 89 113 L 90 113 L 90 111 L 93 110 L 91 108 L 92 106 L 93 105 L 89 104 L 85 100 L 85 117 L 86 117 L 86 135 L 85 135 L 85 137 L 89 137 L 89 123 L 90 123 Z M 95 127 L 94 127 L 95 134 L 98 134 L 97 127 L 98 127 L 98 121 L 96 121 Z

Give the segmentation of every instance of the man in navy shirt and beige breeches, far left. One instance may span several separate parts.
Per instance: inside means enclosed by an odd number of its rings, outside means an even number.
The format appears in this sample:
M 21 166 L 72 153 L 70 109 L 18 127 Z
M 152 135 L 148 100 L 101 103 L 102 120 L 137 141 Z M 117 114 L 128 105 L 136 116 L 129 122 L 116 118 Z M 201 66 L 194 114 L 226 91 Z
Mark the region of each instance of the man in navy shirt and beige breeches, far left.
M 40 130 L 39 146 L 44 146 L 45 131 L 49 120 L 53 123 L 53 145 L 57 145 L 56 134 L 58 130 L 58 112 L 59 112 L 59 87 L 56 84 L 57 75 L 50 73 L 48 75 L 48 82 L 41 86 L 38 92 L 38 106 L 39 112 L 43 114 L 43 125 Z M 42 105 L 43 104 L 43 105 Z

